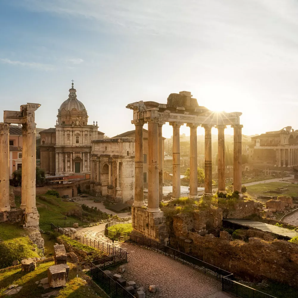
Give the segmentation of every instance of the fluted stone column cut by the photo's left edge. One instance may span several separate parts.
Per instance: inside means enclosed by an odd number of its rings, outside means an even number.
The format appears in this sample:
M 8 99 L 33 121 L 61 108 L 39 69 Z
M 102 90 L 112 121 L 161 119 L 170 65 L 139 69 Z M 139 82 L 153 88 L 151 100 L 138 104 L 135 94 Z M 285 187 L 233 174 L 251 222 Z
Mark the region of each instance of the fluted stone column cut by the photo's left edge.
M 10 211 L 9 124 L 7 123 L 0 123 L 0 211 Z

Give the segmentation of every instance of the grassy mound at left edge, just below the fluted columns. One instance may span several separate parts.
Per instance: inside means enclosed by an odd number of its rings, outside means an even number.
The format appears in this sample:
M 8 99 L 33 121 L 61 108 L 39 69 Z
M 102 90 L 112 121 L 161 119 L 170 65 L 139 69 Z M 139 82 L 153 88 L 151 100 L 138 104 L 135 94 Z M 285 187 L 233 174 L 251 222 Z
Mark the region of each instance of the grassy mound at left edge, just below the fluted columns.
M 39 257 L 33 252 L 32 242 L 26 235 L 26 231 L 19 224 L 0 224 L 0 268 L 12 266 L 14 260 L 23 257 Z

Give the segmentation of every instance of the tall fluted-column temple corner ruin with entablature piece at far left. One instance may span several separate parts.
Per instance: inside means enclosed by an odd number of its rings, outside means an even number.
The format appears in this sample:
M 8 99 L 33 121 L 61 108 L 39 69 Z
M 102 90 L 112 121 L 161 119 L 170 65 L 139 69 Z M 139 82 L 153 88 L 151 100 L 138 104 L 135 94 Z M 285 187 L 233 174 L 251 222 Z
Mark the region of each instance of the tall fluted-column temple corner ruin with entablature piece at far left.
M 36 208 L 36 123 L 35 111 L 38 103 L 21 105 L 20 111 L 4 111 L 4 123 L 0 123 L 0 212 L 9 212 L 9 126 L 22 124 L 22 187 L 21 209 L 25 210 L 25 226 L 38 226 Z

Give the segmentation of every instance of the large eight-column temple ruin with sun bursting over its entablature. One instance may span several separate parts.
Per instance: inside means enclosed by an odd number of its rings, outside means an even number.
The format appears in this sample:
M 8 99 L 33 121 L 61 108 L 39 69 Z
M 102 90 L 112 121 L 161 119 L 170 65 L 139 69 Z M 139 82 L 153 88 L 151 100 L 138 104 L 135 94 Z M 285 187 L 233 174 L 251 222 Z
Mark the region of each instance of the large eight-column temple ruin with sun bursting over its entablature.
M 180 126 L 190 127 L 190 197 L 198 197 L 197 180 L 197 127 L 205 129 L 205 196 L 212 195 L 212 144 L 211 128 L 218 129 L 218 190 L 226 192 L 224 129 L 234 128 L 233 190 L 241 193 L 241 138 L 242 113 L 215 113 L 203 106 L 190 92 L 172 93 L 167 104 L 139 101 L 126 106 L 133 110 L 131 121 L 136 127 L 135 139 L 135 200 L 132 207 L 133 233 L 142 234 L 162 243 L 167 242 L 163 212 L 159 209 L 159 194 L 162 192 L 162 125 L 173 126 L 173 196 L 180 197 Z M 148 208 L 142 208 L 143 195 L 143 125 L 148 123 Z

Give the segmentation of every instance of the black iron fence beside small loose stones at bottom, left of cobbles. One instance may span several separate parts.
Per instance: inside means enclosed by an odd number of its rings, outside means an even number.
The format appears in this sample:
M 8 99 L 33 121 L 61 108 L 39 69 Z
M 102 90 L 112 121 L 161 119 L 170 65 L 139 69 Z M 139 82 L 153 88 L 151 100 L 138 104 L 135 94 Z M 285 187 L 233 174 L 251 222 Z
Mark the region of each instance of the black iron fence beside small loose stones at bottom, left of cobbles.
M 91 277 L 111 298 L 134 298 L 134 295 L 129 293 L 117 281 L 105 274 L 103 270 L 91 262 Z

